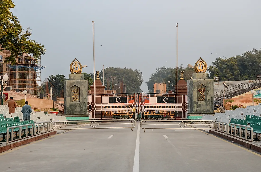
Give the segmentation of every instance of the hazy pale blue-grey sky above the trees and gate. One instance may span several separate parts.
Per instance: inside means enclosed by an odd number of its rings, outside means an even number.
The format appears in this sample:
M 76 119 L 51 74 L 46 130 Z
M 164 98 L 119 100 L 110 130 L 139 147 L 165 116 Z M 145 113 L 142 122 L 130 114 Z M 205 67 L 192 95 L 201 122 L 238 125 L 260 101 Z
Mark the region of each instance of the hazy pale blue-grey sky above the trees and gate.
M 192 64 L 202 57 L 241 55 L 261 48 L 258 0 L 14 0 L 13 10 L 32 39 L 46 48 L 42 80 L 62 74 L 77 58 L 93 72 L 92 21 L 95 22 L 95 69 L 127 67 L 143 73 L 141 86 L 157 67 Z M 102 45 L 102 46 L 100 46 Z M 106 72 L 106 71 L 105 71 Z

